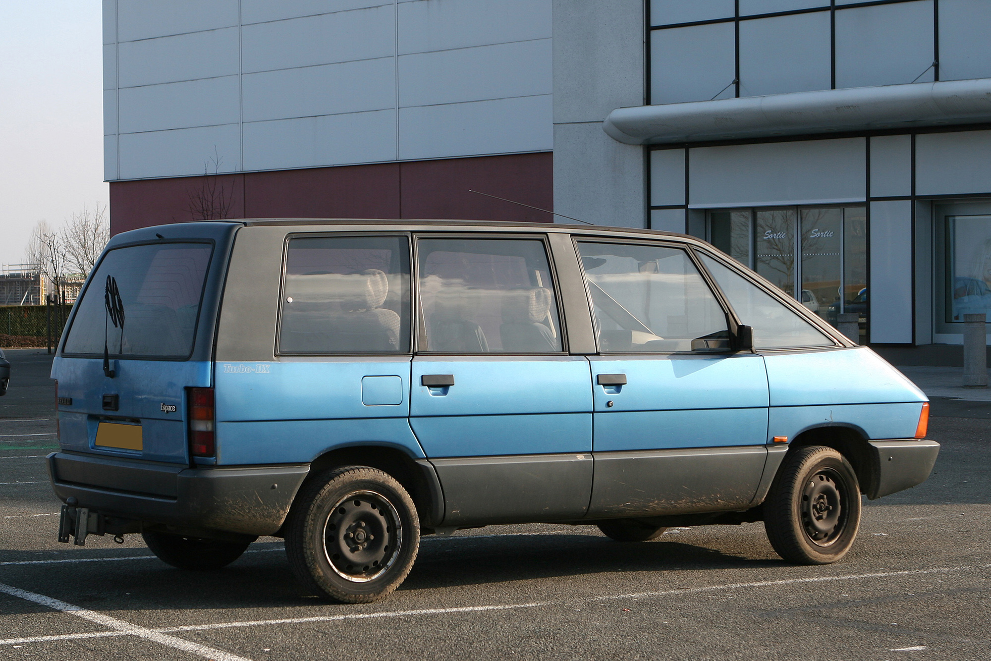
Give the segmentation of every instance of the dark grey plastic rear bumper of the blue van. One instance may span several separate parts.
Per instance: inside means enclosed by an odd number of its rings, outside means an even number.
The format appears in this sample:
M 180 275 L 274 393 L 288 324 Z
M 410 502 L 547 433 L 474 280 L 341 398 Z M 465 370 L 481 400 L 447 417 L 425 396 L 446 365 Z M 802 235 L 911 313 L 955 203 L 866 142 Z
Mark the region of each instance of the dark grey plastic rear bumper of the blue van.
M 308 465 L 187 468 L 54 452 L 55 496 L 105 514 L 183 529 L 275 533 Z

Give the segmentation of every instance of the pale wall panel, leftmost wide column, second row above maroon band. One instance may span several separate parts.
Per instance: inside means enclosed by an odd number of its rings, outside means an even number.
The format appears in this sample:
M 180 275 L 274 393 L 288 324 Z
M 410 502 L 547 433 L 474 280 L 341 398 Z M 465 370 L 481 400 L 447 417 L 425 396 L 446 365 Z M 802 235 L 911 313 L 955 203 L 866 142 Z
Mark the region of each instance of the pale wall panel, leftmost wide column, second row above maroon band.
M 165 131 L 239 121 L 238 76 L 125 87 L 120 131 Z

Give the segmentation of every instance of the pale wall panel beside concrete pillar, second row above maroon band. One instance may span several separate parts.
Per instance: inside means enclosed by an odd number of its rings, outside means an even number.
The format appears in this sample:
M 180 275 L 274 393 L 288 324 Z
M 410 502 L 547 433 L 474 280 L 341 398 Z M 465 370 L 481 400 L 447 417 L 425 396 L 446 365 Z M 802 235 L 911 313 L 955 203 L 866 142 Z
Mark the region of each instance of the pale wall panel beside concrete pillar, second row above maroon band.
M 399 57 L 399 105 L 550 94 L 551 40 Z

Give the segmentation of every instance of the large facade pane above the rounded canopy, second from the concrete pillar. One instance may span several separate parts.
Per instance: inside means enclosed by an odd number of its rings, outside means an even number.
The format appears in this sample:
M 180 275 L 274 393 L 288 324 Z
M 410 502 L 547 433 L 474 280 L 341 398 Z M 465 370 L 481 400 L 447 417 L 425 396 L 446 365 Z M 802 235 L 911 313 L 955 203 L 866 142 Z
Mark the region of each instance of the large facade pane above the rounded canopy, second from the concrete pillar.
M 829 12 L 740 22 L 740 96 L 829 89 Z

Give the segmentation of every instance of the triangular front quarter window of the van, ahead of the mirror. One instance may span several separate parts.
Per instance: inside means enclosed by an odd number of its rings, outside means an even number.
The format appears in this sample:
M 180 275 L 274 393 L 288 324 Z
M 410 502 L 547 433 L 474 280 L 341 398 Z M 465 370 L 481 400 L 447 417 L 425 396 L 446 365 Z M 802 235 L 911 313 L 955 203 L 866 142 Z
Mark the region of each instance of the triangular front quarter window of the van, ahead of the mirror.
M 742 275 L 699 253 L 703 264 L 713 274 L 726 294 L 740 321 L 753 327 L 754 349 L 791 349 L 831 347 L 832 340 L 815 326 L 765 293 Z

